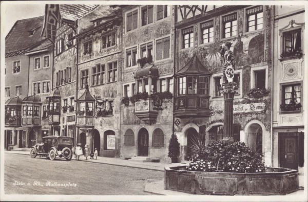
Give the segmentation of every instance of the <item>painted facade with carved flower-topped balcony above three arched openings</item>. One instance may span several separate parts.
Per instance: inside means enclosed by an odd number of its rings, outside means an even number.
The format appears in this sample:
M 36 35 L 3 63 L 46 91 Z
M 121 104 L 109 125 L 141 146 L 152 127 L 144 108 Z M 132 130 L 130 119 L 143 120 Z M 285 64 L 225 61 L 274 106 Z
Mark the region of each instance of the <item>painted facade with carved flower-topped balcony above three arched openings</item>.
M 160 99 L 156 105 L 153 101 L 159 93 L 173 93 L 174 7 L 122 8 L 121 95 L 126 102 L 121 105 L 121 158 L 148 156 L 166 162 L 172 98 Z M 142 58 L 144 62 L 137 63 Z

